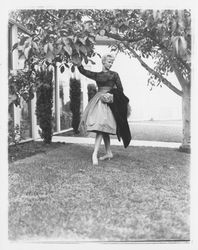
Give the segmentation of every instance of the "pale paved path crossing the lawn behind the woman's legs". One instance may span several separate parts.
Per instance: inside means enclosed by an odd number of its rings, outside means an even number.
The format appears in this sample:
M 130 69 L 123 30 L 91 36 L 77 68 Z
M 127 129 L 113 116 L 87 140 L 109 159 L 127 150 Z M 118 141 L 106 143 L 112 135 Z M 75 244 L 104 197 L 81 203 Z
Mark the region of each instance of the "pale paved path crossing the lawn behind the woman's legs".
M 79 144 L 94 144 L 94 138 L 88 137 L 70 137 L 70 136 L 53 136 L 52 142 L 65 142 L 65 143 L 79 143 Z M 103 142 L 102 142 L 103 144 Z M 111 139 L 111 145 L 122 146 L 122 141 Z M 165 148 L 179 148 L 181 143 L 176 142 L 159 142 L 159 141 L 142 141 L 132 140 L 129 146 L 146 146 L 146 147 L 165 147 Z

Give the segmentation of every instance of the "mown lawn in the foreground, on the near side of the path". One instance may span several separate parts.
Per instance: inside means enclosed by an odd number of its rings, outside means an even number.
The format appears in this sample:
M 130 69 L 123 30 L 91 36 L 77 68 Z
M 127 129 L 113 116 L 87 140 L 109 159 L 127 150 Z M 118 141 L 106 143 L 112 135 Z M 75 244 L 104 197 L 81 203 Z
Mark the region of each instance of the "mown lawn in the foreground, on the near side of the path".
M 92 146 L 50 147 L 9 164 L 10 240 L 189 240 L 189 154 L 114 146 L 93 167 Z

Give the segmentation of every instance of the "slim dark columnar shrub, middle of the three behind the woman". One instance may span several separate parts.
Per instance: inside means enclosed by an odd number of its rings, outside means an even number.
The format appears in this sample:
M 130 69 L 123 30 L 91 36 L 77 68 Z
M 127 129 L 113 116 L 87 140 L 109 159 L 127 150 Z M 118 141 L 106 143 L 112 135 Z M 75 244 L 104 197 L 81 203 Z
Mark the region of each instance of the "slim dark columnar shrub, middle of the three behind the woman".
M 81 84 L 80 81 L 70 79 L 70 109 L 72 112 L 72 128 L 74 133 L 79 133 L 78 126 L 80 123 L 80 103 L 81 103 Z

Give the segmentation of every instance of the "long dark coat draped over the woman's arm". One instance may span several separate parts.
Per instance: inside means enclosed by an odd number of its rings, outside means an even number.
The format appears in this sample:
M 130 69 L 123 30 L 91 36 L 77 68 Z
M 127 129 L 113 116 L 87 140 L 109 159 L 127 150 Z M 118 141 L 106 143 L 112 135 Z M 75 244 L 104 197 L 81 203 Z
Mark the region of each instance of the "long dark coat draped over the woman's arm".
M 131 132 L 127 121 L 127 108 L 129 99 L 124 93 L 116 88 L 109 91 L 113 94 L 113 103 L 108 103 L 117 124 L 117 137 L 122 138 L 124 147 L 128 147 L 131 141 Z

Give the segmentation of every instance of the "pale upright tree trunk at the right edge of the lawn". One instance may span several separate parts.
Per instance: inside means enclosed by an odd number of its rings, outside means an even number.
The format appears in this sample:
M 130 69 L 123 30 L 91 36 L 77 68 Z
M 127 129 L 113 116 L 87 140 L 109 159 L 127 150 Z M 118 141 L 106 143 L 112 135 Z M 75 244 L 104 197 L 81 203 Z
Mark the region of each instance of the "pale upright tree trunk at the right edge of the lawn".
M 191 141 L 191 133 L 190 133 L 190 86 L 183 87 L 183 95 L 182 95 L 182 122 L 183 122 L 183 139 L 182 145 L 180 147 L 180 151 L 190 153 L 190 141 Z

